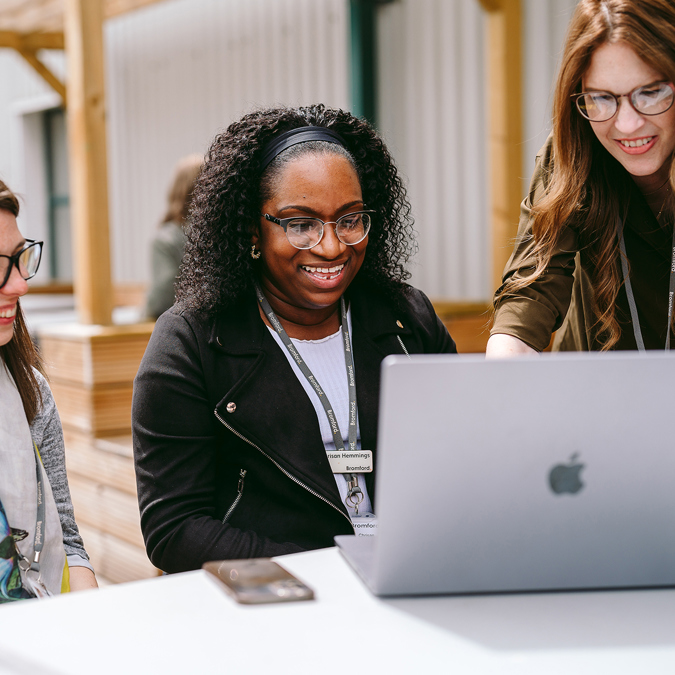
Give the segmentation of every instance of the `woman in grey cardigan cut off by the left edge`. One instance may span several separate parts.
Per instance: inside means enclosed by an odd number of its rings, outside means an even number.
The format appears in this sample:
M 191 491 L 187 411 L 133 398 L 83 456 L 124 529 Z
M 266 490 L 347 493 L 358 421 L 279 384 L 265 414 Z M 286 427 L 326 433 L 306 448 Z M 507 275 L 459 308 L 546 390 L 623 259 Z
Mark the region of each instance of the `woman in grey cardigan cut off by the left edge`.
M 63 433 L 19 298 L 42 242 L 16 224 L 0 181 L 0 603 L 96 587 L 73 517 Z

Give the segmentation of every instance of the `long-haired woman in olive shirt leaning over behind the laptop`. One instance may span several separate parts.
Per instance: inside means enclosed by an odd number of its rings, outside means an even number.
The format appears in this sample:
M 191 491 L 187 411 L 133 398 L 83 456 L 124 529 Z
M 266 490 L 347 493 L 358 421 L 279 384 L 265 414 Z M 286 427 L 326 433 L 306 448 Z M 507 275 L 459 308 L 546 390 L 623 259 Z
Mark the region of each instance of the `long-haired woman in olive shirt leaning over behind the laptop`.
M 581 0 L 488 356 L 669 349 L 675 5 Z

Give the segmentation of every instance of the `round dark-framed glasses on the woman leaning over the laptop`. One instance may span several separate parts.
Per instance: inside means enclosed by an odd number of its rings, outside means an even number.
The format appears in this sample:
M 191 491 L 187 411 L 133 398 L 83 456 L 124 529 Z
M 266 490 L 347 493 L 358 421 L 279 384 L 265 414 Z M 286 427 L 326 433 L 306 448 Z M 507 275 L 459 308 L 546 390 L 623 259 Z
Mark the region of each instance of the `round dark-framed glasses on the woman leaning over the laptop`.
M 673 107 L 675 101 L 675 88 L 672 82 L 662 80 L 652 82 L 641 87 L 636 87 L 627 94 L 612 94 L 611 91 L 582 91 L 580 94 L 572 94 L 579 113 L 591 122 L 607 122 L 619 111 L 619 99 L 627 98 L 631 107 L 640 115 L 662 115 Z M 605 112 L 598 112 L 592 116 L 589 110 L 594 107 L 600 111 L 605 107 Z M 647 112 L 650 106 L 658 106 L 656 112 Z M 665 106 L 665 107 L 664 107 Z

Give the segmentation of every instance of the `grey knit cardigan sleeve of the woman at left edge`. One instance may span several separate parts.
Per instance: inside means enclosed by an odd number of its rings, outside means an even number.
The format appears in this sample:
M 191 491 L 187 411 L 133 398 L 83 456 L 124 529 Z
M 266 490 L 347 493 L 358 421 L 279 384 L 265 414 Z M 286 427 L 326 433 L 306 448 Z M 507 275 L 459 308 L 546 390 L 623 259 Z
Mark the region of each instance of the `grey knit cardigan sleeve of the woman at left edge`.
M 66 551 L 69 567 L 88 567 L 89 556 L 84 550 L 82 537 L 75 524 L 73 503 L 70 499 L 68 477 L 66 476 L 66 453 L 63 444 L 63 430 L 54 397 L 47 380 L 35 371 L 40 384 L 42 407 L 30 425 L 30 434 L 40 451 L 40 457 L 52 487 L 56 508 L 63 530 L 63 547 Z

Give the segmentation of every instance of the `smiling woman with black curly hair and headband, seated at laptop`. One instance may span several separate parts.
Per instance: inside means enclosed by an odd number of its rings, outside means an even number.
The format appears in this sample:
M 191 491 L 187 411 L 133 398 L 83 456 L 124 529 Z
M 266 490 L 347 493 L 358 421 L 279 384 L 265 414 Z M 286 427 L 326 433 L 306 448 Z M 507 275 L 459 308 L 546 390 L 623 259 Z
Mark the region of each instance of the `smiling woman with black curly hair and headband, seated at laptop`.
M 380 362 L 455 351 L 405 283 L 412 219 L 382 140 L 322 105 L 248 114 L 211 146 L 187 234 L 134 390 L 150 559 L 178 572 L 372 525 Z

